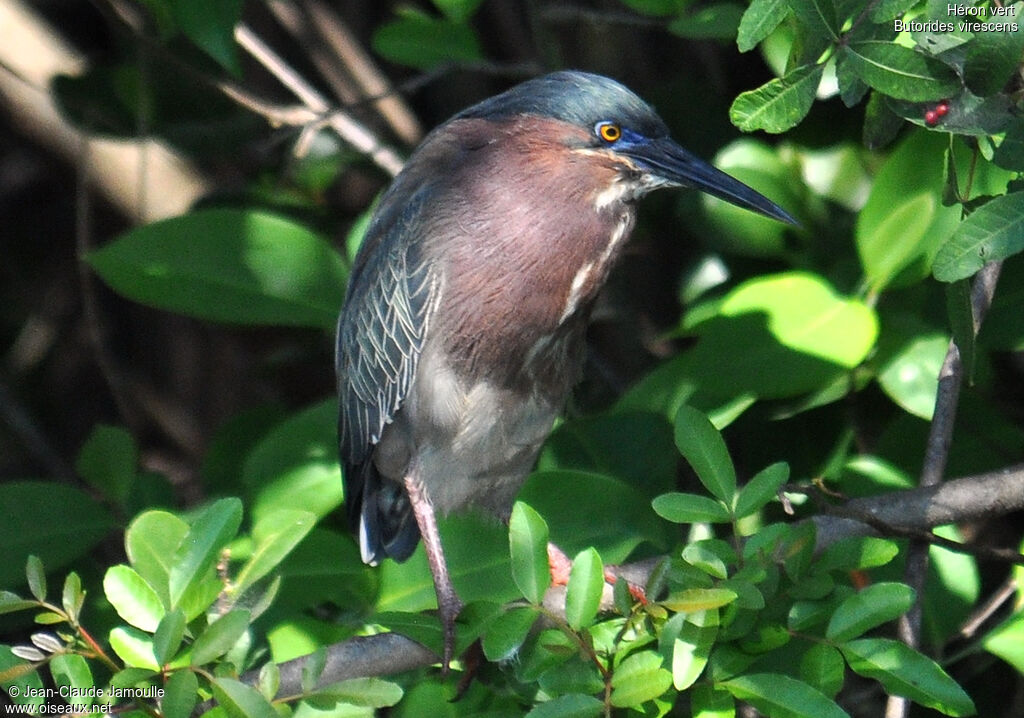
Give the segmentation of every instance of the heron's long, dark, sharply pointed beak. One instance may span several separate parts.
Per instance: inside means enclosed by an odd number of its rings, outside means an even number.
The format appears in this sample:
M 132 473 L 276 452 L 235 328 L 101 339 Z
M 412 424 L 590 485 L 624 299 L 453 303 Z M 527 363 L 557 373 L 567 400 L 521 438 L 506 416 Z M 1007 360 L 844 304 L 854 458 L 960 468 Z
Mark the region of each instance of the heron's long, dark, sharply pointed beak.
M 635 144 L 622 154 L 668 184 L 700 189 L 766 217 L 790 224 L 799 223 L 788 212 L 764 195 L 738 179 L 733 179 L 725 172 L 715 169 L 668 137 Z

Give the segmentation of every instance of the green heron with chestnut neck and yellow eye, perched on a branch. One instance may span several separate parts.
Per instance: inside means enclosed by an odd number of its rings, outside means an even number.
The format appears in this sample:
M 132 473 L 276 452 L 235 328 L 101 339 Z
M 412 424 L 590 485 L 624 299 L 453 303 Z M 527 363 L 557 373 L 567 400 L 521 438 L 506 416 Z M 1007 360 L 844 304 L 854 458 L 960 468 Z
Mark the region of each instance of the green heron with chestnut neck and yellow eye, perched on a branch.
M 445 668 L 462 604 L 435 512 L 508 519 L 638 200 L 678 186 L 794 222 L 623 85 L 559 72 L 435 129 L 377 207 L 338 321 L 345 503 L 367 563 L 423 538 Z

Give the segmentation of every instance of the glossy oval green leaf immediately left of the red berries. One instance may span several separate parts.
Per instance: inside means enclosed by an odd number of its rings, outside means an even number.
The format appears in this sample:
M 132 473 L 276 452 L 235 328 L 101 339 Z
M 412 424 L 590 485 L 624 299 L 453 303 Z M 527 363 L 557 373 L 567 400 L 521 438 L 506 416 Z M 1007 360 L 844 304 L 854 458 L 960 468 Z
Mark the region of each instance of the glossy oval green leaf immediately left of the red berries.
M 857 77 L 896 99 L 927 102 L 948 97 L 958 89 L 952 68 L 894 42 L 851 42 L 842 52 Z

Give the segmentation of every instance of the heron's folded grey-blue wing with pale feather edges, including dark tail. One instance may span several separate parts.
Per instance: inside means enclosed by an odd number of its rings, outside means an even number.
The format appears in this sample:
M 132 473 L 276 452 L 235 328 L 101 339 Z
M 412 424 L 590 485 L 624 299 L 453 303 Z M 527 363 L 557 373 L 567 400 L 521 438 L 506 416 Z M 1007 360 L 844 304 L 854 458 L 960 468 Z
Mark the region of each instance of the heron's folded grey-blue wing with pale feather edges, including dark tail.
M 410 233 L 412 209 L 391 231 Z M 369 239 L 338 320 L 335 363 L 345 503 L 364 559 L 377 563 L 407 558 L 419 539 L 403 488 L 378 474 L 373 451 L 412 387 L 436 278 L 408 237 Z

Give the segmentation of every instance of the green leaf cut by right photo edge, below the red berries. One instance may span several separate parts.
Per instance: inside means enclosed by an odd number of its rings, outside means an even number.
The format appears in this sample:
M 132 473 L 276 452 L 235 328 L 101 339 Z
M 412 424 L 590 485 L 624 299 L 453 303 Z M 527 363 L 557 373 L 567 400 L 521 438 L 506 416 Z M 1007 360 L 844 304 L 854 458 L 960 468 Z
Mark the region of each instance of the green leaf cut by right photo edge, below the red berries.
M 1024 250 L 1024 192 L 986 202 L 942 245 L 932 271 L 940 282 L 970 277 L 985 262 Z

